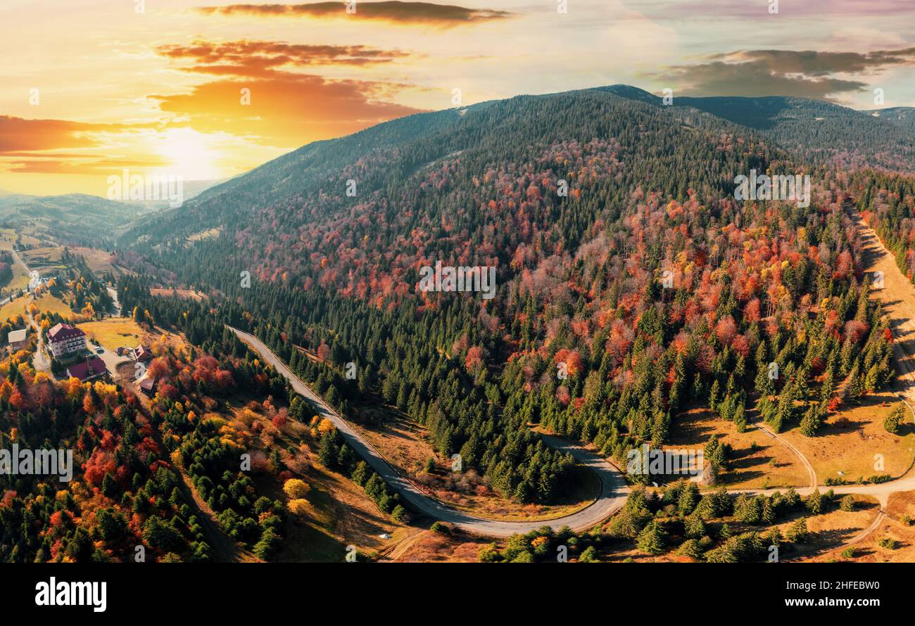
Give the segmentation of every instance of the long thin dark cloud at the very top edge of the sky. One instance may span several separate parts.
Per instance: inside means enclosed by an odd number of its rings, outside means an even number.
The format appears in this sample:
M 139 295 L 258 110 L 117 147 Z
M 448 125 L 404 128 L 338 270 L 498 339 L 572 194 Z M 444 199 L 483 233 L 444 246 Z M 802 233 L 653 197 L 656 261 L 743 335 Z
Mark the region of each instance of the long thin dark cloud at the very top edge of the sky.
M 225 5 L 202 6 L 197 9 L 208 15 L 316 17 L 371 19 L 402 25 L 455 27 L 505 19 L 517 14 L 492 9 L 472 9 L 456 5 L 435 5 L 428 2 L 358 2 L 356 12 L 346 12 L 342 2 L 314 2 L 302 5 Z

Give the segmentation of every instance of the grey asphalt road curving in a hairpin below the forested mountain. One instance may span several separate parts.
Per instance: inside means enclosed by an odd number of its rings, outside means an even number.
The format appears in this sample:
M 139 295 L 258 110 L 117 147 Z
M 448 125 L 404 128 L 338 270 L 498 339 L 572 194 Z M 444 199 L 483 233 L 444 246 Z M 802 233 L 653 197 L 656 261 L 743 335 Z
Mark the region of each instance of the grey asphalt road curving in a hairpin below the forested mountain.
M 264 345 L 264 342 L 253 334 L 245 333 L 231 326 L 229 328 L 238 335 L 239 339 L 261 355 L 267 363 L 274 366 L 276 371 L 289 381 L 296 393 L 311 400 L 318 410 L 318 415 L 333 422 L 340 434 L 343 435 L 343 438 L 371 466 L 371 469 L 381 475 L 397 493 L 401 494 L 401 497 L 406 502 L 425 515 L 482 536 L 511 536 L 515 533 L 527 533 L 544 525 L 554 528 L 569 526 L 573 530 L 579 531 L 595 526 L 619 511 L 629 495 L 629 487 L 626 481 L 619 471 L 605 459 L 581 446 L 544 435 L 544 440 L 551 447 L 569 452 L 577 462 L 597 474 L 597 478 L 600 480 L 600 494 L 593 503 L 571 515 L 539 522 L 484 519 L 453 509 L 420 491 L 414 483 L 407 480 L 403 474 L 385 461 L 382 455 L 368 441 L 362 439 L 361 435 L 356 430 L 353 430 L 345 419 L 342 419 L 333 408 L 328 407 L 324 400 L 318 398 L 299 377 L 296 377 L 285 366 L 285 363 L 277 355 L 274 355 L 270 348 Z

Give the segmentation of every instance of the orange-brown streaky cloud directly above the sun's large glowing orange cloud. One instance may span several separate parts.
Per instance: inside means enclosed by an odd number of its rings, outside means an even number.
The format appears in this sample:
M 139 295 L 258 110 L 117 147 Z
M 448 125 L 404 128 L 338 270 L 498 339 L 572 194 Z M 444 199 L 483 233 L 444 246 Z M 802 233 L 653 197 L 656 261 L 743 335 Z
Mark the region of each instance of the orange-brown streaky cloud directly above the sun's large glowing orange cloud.
M 391 63 L 409 57 L 402 50 L 382 50 L 368 46 L 313 46 L 277 41 L 195 41 L 189 46 L 167 45 L 156 48 L 167 58 L 188 59 L 196 65 L 187 71 L 205 74 L 263 78 L 279 76 L 285 69 L 308 66 L 366 66 Z

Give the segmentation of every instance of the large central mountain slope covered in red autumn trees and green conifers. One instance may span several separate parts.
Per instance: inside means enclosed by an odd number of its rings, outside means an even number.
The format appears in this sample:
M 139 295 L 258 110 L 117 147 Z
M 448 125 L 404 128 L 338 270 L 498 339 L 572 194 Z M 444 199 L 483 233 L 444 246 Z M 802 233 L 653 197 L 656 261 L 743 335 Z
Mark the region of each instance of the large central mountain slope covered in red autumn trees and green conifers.
M 813 435 L 838 381 L 849 398 L 886 385 L 845 179 L 765 130 L 625 96 L 519 97 L 310 144 L 134 228 L 122 261 L 143 277 L 120 301 L 205 347 L 214 318 L 251 330 L 331 404 L 380 395 L 521 501 L 568 480 L 530 422 L 622 461 L 693 402 L 742 429 L 753 394 L 775 430 Z M 811 206 L 737 202 L 751 169 L 809 173 Z M 496 297 L 420 292 L 436 261 L 496 267 Z M 213 300 L 150 298 L 156 282 Z M 726 468 L 725 446 L 705 453 Z

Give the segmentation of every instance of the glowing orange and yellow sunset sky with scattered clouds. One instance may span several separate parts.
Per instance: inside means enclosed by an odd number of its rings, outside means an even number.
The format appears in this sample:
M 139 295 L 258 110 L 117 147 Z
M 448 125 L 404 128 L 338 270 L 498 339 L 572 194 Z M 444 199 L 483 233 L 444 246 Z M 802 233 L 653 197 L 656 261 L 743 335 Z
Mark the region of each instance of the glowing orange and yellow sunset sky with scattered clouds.
M 416 111 L 628 83 L 915 105 L 915 1 L 0 0 L 0 189 L 224 178 Z M 250 105 L 242 90 L 250 90 Z M 36 91 L 37 90 L 37 91 Z

